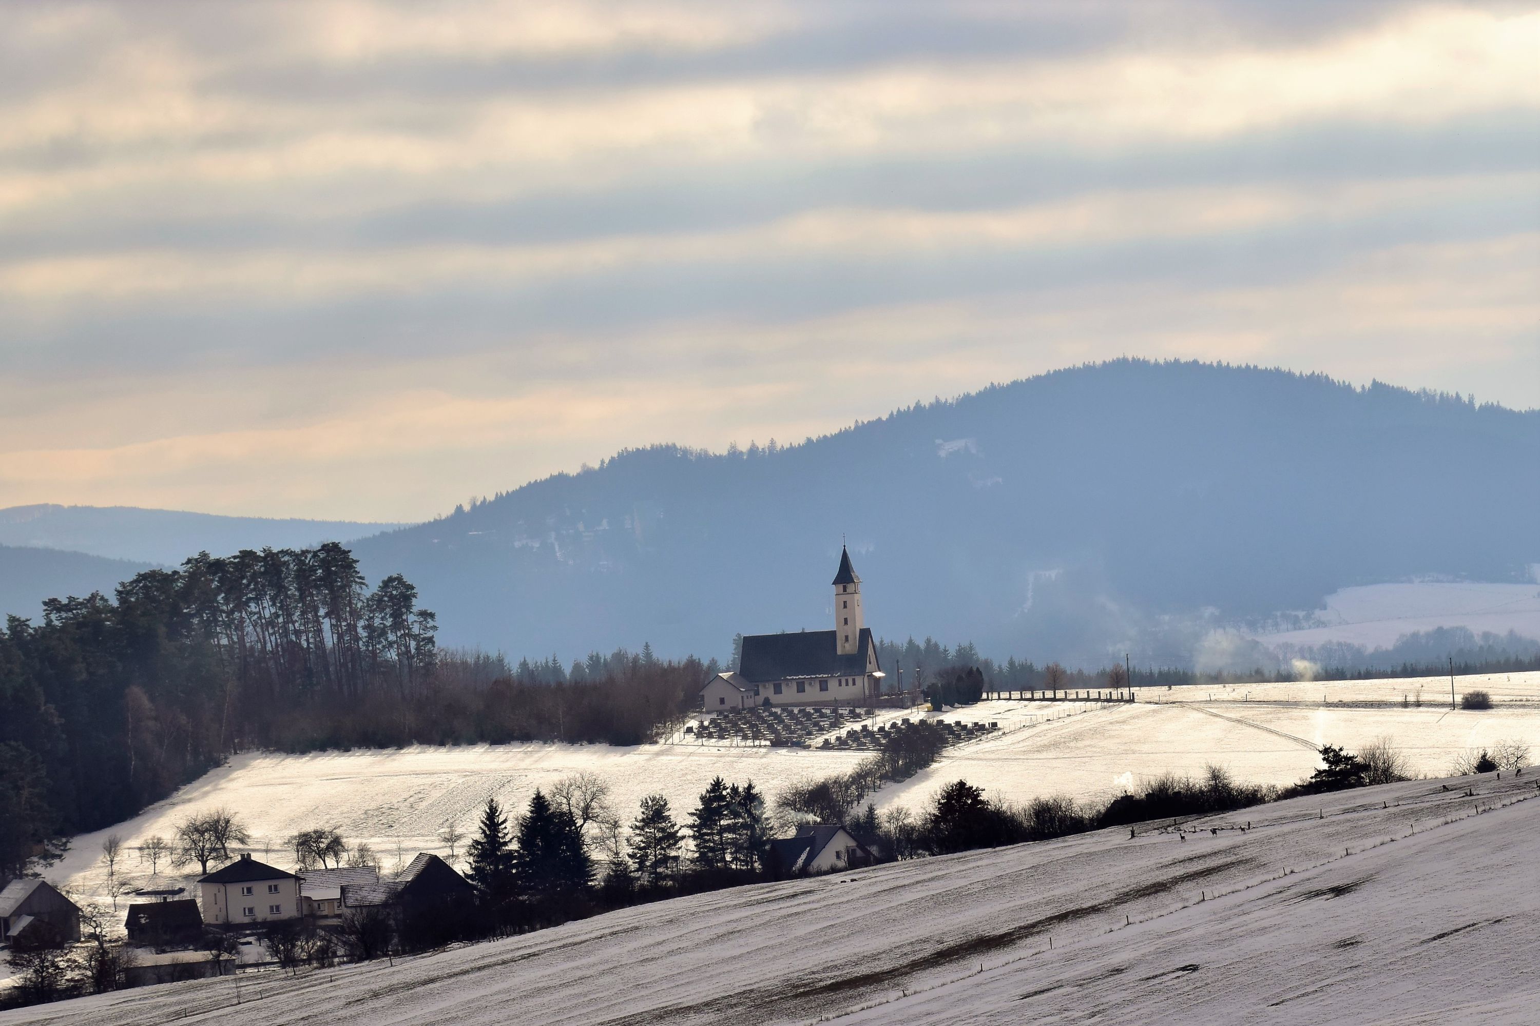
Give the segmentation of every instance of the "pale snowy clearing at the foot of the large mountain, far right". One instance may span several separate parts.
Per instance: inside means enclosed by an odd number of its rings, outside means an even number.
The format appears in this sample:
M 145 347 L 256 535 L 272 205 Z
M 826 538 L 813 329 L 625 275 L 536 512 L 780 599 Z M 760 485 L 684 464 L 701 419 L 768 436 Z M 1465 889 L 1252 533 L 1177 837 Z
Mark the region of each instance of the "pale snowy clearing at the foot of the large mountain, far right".
M 1391 648 L 1397 638 L 1435 628 L 1469 628 L 1540 638 L 1540 586 L 1440 583 L 1364 585 L 1332 592 L 1317 611 L 1321 626 L 1258 634 L 1266 645 L 1314 646 L 1348 641 L 1368 649 Z

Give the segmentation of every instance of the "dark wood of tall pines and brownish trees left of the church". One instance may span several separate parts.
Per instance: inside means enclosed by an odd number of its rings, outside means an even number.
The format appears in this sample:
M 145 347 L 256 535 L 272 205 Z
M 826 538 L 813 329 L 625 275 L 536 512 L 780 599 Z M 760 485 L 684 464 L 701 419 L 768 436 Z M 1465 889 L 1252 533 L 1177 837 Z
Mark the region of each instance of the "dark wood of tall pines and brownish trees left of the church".
M 0 629 L 0 881 L 55 838 L 136 815 L 245 748 L 516 740 L 631 745 L 673 729 L 698 660 L 647 649 L 539 685 L 439 652 L 436 618 L 340 545 L 199 554 Z

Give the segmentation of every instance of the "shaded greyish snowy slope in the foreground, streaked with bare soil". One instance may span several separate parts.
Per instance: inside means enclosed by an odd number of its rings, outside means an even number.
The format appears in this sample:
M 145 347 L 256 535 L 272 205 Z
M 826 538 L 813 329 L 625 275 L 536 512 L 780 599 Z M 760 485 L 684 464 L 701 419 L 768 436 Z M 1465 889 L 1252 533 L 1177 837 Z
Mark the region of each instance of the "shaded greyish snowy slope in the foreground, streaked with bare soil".
M 0 1024 L 1532 1023 L 1535 798 L 1529 774 L 1388 784 Z

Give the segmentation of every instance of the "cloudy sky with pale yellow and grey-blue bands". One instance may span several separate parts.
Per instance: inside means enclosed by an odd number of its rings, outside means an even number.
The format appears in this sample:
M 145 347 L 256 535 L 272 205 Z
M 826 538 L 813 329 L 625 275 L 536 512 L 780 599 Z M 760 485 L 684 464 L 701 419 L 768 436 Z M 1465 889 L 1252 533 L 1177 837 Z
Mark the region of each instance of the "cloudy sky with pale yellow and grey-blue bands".
M 1540 3 L 0 6 L 0 506 L 419 520 L 1138 355 L 1540 406 Z

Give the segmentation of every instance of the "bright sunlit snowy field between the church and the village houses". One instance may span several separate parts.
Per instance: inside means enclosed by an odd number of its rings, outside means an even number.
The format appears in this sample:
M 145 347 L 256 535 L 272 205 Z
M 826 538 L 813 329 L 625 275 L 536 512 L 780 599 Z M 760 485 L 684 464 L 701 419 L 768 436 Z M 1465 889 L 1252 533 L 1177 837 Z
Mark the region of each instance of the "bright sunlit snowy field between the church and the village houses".
M 993 720 L 1001 725 L 999 734 L 949 749 L 935 766 L 884 788 L 873 800 L 879 808 L 898 803 L 918 809 L 959 777 L 1013 801 L 1050 794 L 1093 798 L 1116 794 L 1141 777 L 1198 774 L 1209 763 L 1229 768 L 1240 780 L 1283 784 L 1309 775 L 1318 745 L 1357 748 L 1378 737 L 1391 737 L 1412 769 L 1428 775 L 1448 772 L 1468 748 L 1506 738 L 1528 741 L 1540 755 L 1540 674 L 1458 678 L 1458 691 L 1485 688 L 1494 694 L 1498 708 L 1491 712 L 1449 712 L 1448 683 L 1426 678 L 1150 689 L 1138 703 L 1104 706 L 979 703 L 942 715 Z M 1418 688 L 1423 706 L 1401 708 L 1401 695 L 1415 695 Z M 1443 706 L 1437 705 L 1440 692 Z M 1261 701 L 1263 694 L 1272 701 Z M 137 848 L 154 834 L 169 838 L 189 812 L 217 806 L 234 809 L 246 823 L 257 858 L 290 866 L 285 837 L 311 826 L 334 826 L 350 843 L 370 843 L 388 872 L 397 858 L 408 861 L 419 851 L 448 855 L 439 831 L 451 820 L 473 831 L 488 795 L 519 811 L 534 788 L 576 771 L 604 777 L 627 818 L 644 794 L 662 792 L 684 820 L 718 774 L 730 781 L 753 780 L 773 798 L 788 783 L 845 771 L 864 755 L 702 745 L 243 754 L 136 818 L 74 838 L 71 851 L 45 875 L 82 898 L 105 903 L 100 849 L 108 834 Z M 120 874 L 132 886 L 166 883 L 165 866 L 162 877 L 151 880 L 149 868 L 134 854 L 123 858 Z

